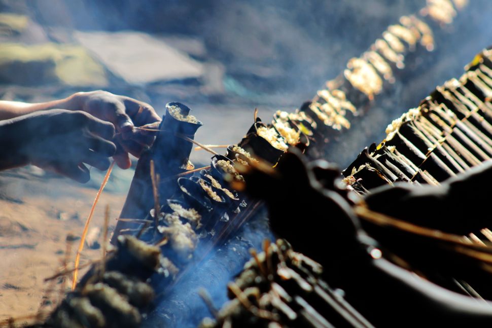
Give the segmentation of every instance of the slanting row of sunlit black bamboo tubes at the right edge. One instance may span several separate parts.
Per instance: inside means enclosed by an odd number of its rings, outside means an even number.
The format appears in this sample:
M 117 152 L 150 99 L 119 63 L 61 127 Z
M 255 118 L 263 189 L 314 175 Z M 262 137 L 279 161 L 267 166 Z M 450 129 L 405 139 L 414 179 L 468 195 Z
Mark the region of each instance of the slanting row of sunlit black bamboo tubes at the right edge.
M 437 186 L 440 181 L 491 159 L 492 108 L 487 98 L 492 93 L 489 84 L 492 70 L 487 66 L 489 52 L 484 50 L 477 56 L 477 63 L 459 80 L 452 79 L 437 87 L 418 108 L 394 121 L 378 148 L 364 156 L 361 153 L 344 175 L 354 173 L 354 179 L 365 175 L 365 180 L 360 180 L 363 189 L 380 186 L 381 180 L 371 176 L 386 170 L 380 167 L 376 170 L 372 167 L 377 166 L 374 163 L 370 167 L 361 166 L 362 157 L 365 163 L 369 163 L 367 158 L 377 158 L 379 164 L 402 180 L 412 173 L 412 181 Z M 386 183 L 394 181 L 392 176 L 382 175 Z

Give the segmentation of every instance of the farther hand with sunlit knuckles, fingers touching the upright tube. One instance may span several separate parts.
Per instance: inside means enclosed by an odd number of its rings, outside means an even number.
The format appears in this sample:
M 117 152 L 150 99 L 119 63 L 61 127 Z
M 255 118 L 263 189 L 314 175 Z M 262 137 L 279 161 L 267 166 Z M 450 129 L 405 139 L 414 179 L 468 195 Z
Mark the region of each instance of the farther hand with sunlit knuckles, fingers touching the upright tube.
M 101 120 L 113 123 L 116 131 L 116 164 L 123 169 L 130 167 L 128 153 L 140 157 L 155 139 L 155 133 L 134 129 L 146 125 L 156 129 L 161 118 L 148 103 L 107 91 L 78 92 L 68 98 L 69 110 L 80 110 Z M 153 124 L 154 123 L 154 124 Z M 149 125 L 152 124 L 152 125 Z

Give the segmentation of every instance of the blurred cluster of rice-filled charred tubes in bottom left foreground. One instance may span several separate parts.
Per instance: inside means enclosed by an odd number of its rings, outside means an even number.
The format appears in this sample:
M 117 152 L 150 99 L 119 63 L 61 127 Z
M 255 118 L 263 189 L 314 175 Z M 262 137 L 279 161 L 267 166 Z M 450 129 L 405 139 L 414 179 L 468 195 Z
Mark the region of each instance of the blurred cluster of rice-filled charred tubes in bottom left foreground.
M 117 249 L 94 264 L 44 323 L 34 327 L 136 327 L 155 298 L 151 277 L 162 267 L 160 250 L 132 236 L 120 236 Z

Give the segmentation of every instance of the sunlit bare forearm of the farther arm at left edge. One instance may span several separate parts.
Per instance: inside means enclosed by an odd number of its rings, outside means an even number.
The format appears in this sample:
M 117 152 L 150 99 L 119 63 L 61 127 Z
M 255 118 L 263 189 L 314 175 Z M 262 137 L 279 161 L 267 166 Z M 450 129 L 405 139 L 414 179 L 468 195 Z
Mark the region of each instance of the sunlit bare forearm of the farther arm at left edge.
M 77 93 L 64 99 L 47 102 L 27 103 L 20 101 L 0 100 L 0 120 L 13 119 L 22 115 L 38 111 L 47 111 L 59 108 L 62 110 L 76 110 Z

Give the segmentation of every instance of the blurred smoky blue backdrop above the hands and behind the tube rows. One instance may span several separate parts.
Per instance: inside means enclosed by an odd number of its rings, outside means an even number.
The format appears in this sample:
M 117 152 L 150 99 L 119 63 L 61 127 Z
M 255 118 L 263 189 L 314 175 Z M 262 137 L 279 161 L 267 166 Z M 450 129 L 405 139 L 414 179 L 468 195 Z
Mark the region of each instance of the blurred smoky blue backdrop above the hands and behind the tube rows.
M 43 101 L 105 89 L 147 101 L 160 114 L 166 102 L 182 101 L 204 123 L 197 134 L 201 142 L 234 143 L 251 124 L 255 107 L 264 119 L 277 109 L 294 110 L 388 25 L 425 5 L 426 0 L 1 0 L 0 98 Z M 407 67 L 398 87 L 408 91 L 384 106 L 392 109 L 381 112 L 381 132 L 369 135 L 369 142 L 379 141 L 385 125 L 435 85 L 460 76 L 473 55 L 492 43 L 491 9 L 490 1 L 473 0 L 442 27 L 444 36 L 427 55 L 435 60 L 418 58 L 413 76 Z M 207 162 L 208 155 L 192 159 Z M 330 160 L 348 164 L 336 156 Z

